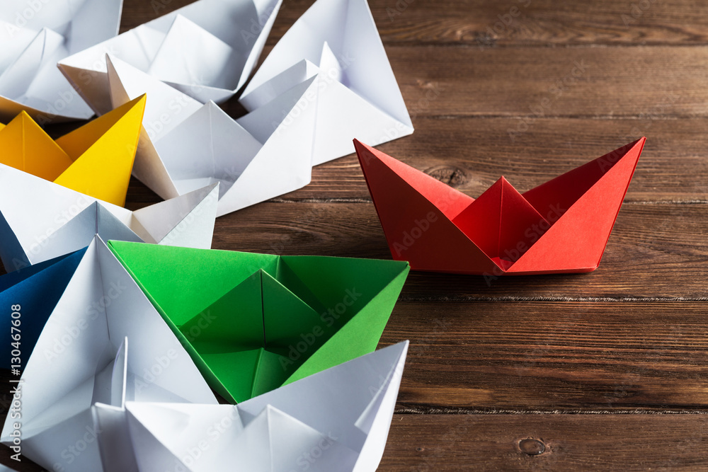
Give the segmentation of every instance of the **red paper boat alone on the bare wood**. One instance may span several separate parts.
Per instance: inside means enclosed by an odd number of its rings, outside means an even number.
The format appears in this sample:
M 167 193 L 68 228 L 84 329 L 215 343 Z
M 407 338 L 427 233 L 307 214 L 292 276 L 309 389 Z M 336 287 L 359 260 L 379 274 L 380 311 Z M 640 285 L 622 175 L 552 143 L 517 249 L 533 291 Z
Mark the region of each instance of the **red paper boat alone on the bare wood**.
M 646 138 L 523 194 L 500 178 L 476 200 L 354 140 L 394 259 L 477 275 L 598 268 Z

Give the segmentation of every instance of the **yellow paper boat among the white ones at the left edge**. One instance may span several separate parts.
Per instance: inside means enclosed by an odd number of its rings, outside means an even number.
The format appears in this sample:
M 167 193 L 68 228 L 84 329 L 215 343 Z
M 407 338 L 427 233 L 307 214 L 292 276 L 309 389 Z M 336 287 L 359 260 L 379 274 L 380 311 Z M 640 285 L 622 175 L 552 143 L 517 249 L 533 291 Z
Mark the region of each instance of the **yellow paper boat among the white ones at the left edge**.
M 56 141 L 24 111 L 0 124 L 0 163 L 125 205 L 145 96 L 140 96 Z

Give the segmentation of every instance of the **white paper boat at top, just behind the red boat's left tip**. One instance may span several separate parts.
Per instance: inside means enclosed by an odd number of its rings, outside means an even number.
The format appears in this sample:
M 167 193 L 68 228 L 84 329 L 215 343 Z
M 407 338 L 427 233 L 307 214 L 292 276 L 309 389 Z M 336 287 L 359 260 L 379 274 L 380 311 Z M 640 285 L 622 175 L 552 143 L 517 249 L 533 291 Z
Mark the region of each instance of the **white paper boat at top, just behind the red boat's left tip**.
M 256 110 L 295 86 L 287 71 L 303 59 L 320 69 L 314 166 L 353 153 L 353 139 L 375 146 L 413 132 L 366 0 L 317 0 L 273 47 L 241 103 Z

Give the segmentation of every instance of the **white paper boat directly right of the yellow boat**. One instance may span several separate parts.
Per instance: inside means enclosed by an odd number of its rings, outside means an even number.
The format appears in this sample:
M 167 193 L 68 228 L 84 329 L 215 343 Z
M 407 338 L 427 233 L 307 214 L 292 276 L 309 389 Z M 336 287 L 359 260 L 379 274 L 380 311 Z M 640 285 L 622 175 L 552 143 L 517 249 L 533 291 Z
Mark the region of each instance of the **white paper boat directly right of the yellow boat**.
M 316 68 L 267 105 L 234 120 L 110 57 L 112 106 L 148 94 L 133 174 L 163 198 L 219 183 L 217 216 L 297 190 L 310 182 L 316 117 Z M 305 74 L 309 73 L 309 79 Z

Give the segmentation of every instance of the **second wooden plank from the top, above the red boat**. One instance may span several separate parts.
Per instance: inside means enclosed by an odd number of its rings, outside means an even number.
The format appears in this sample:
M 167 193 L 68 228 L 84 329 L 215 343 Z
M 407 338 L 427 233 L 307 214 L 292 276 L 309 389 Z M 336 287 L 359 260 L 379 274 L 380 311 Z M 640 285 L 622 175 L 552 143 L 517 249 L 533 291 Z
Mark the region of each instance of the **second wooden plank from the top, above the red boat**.
M 413 116 L 706 113 L 707 47 L 387 50 Z

